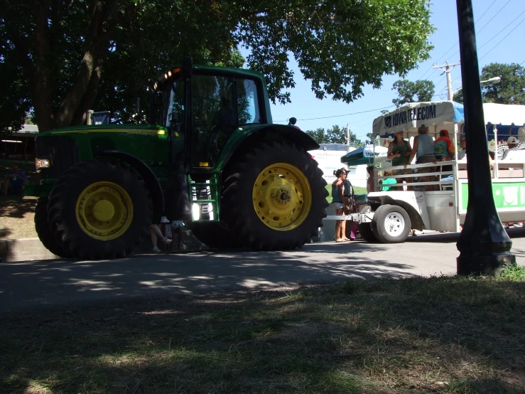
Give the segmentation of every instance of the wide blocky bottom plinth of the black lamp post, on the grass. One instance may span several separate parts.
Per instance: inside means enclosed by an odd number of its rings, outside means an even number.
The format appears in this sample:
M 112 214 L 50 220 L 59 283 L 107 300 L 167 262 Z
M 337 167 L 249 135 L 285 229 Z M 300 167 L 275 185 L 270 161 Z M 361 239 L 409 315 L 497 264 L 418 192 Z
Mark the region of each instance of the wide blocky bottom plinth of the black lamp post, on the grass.
M 516 265 L 512 253 L 492 256 L 460 256 L 456 258 L 458 275 L 499 275 L 505 267 Z

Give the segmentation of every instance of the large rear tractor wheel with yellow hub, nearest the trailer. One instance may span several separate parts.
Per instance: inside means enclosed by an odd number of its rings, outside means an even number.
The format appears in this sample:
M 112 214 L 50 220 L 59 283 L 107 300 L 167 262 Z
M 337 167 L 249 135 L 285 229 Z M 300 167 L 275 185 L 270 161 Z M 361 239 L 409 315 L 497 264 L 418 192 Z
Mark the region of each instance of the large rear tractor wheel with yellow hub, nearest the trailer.
M 286 142 L 263 143 L 228 168 L 221 218 L 242 245 L 290 250 L 317 235 L 328 191 L 310 154 Z

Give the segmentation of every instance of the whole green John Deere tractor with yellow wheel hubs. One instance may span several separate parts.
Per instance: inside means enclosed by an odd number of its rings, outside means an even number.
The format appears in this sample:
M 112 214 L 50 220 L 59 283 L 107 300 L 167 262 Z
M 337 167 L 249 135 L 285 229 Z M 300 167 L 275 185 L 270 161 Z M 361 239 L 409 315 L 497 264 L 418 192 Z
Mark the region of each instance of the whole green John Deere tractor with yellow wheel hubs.
M 317 233 L 328 195 L 296 127 L 273 124 L 260 73 L 193 65 L 153 85 L 148 125 L 55 129 L 36 138 L 35 225 L 60 257 L 124 257 L 161 216 L 210 247 L 288 250 Z

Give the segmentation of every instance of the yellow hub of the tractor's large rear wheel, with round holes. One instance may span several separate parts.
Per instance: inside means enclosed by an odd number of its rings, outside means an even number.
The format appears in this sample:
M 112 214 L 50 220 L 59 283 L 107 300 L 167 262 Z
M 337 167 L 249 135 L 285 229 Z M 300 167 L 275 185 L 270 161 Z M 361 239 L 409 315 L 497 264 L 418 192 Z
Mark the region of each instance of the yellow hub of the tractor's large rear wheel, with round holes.
M 252 201 L 265 225 L 277 231 L 290 231 L 310 213 L 312 191 L 301 170 L 291 164 L 277 163 L 257 176 Z

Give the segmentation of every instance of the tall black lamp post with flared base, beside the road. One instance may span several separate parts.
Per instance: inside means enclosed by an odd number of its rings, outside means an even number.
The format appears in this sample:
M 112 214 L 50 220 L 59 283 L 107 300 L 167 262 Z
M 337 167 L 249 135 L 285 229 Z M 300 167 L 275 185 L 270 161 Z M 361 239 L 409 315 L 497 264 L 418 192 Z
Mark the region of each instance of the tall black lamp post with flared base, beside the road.
M 456 0 L 460 33 L 461 79 L 467 126 L 468 206 L 458 240 L 458 275 L 493 275 L 516 264 L 512 241 L 496 212 L 483 117 L 472 0 Z

